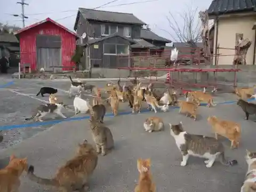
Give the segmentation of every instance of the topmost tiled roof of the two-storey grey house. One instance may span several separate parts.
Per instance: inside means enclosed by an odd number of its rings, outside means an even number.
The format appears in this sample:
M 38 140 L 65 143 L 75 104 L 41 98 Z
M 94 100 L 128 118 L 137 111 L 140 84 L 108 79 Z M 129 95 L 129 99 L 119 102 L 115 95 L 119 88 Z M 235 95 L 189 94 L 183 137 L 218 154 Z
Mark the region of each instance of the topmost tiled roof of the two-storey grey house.
M 119 13 L 84 8 L 79 8 L 78 12 L 81 12 L 83 17 L 89 20 L 146 25 L 145 22 L 135 17 L 132 13 Z

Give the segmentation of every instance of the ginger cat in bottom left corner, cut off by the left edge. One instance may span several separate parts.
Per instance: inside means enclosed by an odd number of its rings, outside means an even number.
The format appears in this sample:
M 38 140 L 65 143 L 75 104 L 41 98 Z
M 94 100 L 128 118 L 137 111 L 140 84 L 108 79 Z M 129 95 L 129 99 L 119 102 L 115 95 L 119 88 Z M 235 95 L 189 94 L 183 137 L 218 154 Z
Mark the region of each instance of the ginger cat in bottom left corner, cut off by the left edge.
M 0 192 L 19 191 L 19 178 L 23 171 L 28 171 L 27 158 L 11 155 L 9 164 L 0 170 Z

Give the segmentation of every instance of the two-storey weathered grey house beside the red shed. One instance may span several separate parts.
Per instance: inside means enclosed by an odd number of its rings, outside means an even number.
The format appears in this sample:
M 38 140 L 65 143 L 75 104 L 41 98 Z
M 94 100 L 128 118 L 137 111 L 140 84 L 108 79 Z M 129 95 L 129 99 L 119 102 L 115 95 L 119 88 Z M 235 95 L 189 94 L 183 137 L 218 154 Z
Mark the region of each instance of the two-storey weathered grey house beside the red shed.
M 171 42 L 144 25 L 131 13 L 79 8 L 74 30 L 81 37 L 77 44 L 85 47 L 86 68 L 129 67 L 133 49 L 157 49 Z

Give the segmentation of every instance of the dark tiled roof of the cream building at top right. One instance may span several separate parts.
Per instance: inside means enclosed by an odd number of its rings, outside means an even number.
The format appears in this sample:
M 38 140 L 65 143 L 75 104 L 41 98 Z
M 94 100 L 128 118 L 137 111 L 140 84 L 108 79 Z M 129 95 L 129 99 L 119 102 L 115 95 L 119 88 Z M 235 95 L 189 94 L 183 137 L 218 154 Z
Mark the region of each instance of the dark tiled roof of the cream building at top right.
M 209 15 L 226 14 L 236 12 L 249 12 L 255 10 L 256 0 L 213 0 L 209 9 Z

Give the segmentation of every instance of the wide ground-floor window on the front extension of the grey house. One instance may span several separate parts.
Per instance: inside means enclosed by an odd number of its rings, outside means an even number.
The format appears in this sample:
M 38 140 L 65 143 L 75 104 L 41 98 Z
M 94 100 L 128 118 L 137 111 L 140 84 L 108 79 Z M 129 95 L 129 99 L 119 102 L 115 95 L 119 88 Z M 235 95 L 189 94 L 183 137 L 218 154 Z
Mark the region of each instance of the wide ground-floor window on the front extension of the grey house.
M 129 45 L 104 44 L 103 53 L 108 54 L 129 54 Z

